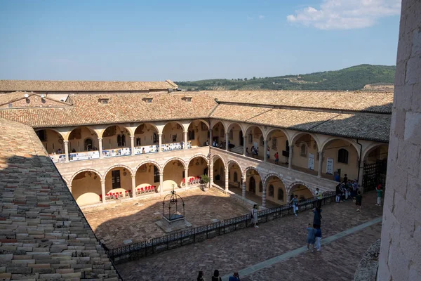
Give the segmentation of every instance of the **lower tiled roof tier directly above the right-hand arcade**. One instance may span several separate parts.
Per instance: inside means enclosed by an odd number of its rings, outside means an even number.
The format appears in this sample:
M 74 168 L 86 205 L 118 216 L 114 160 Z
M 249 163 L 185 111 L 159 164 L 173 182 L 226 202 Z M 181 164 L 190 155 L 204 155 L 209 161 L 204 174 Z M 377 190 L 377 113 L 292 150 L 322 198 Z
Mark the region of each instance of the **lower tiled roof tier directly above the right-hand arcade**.
M 387 143 L 392 116 L 220 104 L 210 117 Z

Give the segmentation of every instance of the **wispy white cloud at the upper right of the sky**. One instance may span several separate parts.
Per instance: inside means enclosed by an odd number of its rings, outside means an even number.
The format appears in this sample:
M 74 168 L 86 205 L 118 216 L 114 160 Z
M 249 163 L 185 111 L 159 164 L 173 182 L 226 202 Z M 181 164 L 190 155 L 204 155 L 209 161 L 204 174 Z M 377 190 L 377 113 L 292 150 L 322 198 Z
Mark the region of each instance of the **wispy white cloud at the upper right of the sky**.
M 323 0 L 319 9 L 309 6 L 286 20 L 320 30 L 352 30 L 400 13 L 401 0 Z

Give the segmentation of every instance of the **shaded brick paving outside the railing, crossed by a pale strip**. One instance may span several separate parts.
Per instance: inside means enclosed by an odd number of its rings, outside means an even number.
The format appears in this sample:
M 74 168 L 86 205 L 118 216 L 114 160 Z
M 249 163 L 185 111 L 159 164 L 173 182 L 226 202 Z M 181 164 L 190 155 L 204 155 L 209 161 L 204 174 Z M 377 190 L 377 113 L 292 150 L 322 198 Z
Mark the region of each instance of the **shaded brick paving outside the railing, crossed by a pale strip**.
M 324 207 L 323 236 L 340 233 L 381 216 L 382 208 L 374 204 L 375 193 L 369 192 L 364 195 L 364 210 L 361 214 L 356 212 L 351 200 Z M 312 222 L 312 218 L 313 214 L 305 211 L 297 217 L 279 218 L 261 224 L 260 228 L 246 228 L 138 261 L 123 263 L 117 268 L 124 280 L 194 280 L 198 270 L 203 270 L 210 279 L 214 269 L 227 275 L 305 245 L 305 227 Z M 378 223 L 324 245 L 321 253 L 296 256 L 274 265 L 273 268 L 244 276 L 241 280 L 352 280 L 363 252 L 380 237 L 380 228 Z M 314 261 L 316 254 L 323 257 L 317 263 Z M 286 266 L 281 266 L 284 263 Z M 293 270 L 295 274 L 290 274 Z M 302 278 L 300 273 L 303 274 Z

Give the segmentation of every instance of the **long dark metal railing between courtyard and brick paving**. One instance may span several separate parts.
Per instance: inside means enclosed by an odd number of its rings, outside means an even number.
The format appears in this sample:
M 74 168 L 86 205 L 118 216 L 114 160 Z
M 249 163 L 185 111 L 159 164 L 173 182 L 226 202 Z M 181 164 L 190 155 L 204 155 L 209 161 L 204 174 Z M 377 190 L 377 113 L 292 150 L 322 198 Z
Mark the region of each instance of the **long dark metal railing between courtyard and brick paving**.
M 302 200 L 299 202 L 299 211 L 306 211 L 313 209 L 316 204 L 316 197 Z M 330 204 L 335 201 L 335 192 L 325 192 L 323 194 L 322 205 Z M 293 214 L 291 204 L 285 204 L 281 207 L 274 207 L 258 211 L 258 222 L 265 223 L 272 221 L 275 218 L 281 218 Z M 127 246 L 117 247 L 108 251 L 108 256 L 114 263 L 122 263 L 133 259 L 138 259 L 143 256 L 150 256 L 161 251 L 167 251 L 187 244 L 203 241 L 225 233 L 246 228 L 250 226 L 251 214 L 229 218 L 217 223 L 210 223 L 206 226 L 198 226 L 196 228 L 189 228 L 178 233 L 171 233 L 161 237 L 152 238 L 142 242 L 136 242 Z

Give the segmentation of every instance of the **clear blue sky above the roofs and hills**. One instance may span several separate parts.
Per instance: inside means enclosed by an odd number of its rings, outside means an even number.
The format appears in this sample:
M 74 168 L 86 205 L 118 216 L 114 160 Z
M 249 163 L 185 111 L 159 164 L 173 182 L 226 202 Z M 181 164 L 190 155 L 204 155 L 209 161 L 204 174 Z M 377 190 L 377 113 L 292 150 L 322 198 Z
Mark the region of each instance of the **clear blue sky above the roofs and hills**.
M 186 81 L 394 65 L 398 34 L 399 0 L 0 0 L 0 79 Z

